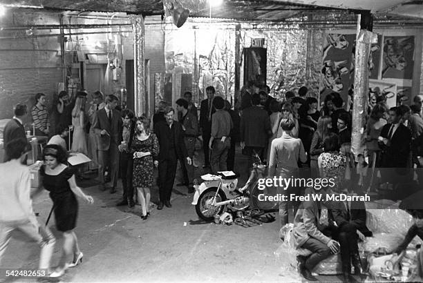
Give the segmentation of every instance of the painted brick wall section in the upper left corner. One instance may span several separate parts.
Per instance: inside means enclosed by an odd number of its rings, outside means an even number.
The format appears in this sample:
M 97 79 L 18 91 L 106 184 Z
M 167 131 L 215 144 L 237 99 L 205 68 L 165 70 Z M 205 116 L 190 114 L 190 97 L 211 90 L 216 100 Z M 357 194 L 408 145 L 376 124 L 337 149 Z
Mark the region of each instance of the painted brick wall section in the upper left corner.
M 58 15 L 57 12 L 14 10 L 1 19 L 1 26 L 58 24 Z M 48 32 L 58 33 L 57 30 L 42 33 Z M 25 35 L 25 30 L 1 34 L 10 39 L 0 41 L 0 119 L 10 119 L 13 116 L 13 106 L 19 102 L 26 102 L 30 110 L 37 92 L 45 93 L 51 104 L 56 84 L 63 80 L 59 38 L 13 39 Z M 30 123 L 30 115 L 25 123 Z

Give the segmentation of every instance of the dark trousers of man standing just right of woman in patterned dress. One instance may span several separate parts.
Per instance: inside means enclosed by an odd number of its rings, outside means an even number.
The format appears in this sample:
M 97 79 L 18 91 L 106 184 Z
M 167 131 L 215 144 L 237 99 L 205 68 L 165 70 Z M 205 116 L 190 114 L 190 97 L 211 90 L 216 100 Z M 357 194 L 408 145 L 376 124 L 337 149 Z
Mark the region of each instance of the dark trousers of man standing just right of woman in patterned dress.
M 158 166 L 160 202 L 170 201 L 173 182 L 175 181 L 176 167 L 178 166 L 178 158 L 176 157 L 175 150 L 170 150 L 170 153 L 164 156 L 166 156 L 166 159 L 159 160 Z

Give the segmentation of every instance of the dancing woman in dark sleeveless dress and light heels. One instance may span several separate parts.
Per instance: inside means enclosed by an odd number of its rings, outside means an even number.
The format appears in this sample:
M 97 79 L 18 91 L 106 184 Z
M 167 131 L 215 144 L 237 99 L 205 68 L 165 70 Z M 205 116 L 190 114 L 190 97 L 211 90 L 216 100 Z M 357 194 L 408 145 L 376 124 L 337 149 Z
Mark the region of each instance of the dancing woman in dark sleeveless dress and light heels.
M 67 153 L 62 147 L 49 144 L 44 148 L 43 157 L 45 165 L 40 169 L 42 182 L 53 200 L 57 231 L 62 232 L 64 237 L 62 258 L 56 271 L 50 276 L 60 277 L 64 275 L 68 267 L 77 266 L 82 262 L 83 255 L 79 250 L 75 232 L 73 232 L 78 214 L 78 202 L 75 195 L 85 199 L 89 204 L 94 201 L 93 197 L 85 195 L 77 187 L 73 171 L 65 165 Z M 69 263 L 72 256 L 72 263 Z

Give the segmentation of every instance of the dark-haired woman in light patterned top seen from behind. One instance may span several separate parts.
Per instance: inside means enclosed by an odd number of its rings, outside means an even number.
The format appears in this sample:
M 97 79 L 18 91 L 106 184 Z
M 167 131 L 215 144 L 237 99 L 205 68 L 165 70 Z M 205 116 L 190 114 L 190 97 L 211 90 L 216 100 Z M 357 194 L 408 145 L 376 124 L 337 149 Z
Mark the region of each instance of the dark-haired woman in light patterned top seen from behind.
M 335 179 L 335 186 L 331 189 L 334 192 L 339 192 L 339 184 L 344 181 L 346 157 L 339 153 L 337 134 L 329 133 L 323 142 L 323 148 L 325 151 L 318 158 L 320 177 Z

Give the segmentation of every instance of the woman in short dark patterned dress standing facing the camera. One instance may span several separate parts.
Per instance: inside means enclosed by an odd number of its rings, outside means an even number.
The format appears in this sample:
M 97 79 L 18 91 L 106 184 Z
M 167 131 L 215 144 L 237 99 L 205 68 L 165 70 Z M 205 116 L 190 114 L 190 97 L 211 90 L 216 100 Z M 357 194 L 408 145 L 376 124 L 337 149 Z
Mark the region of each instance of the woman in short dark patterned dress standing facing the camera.
M 135 133 L 131 144 L 133 154 L 133 187 L 137 188 L 138 203 L 142 219 L 150 215 L 150 188 L 153 186 L 153 166 L 158 166 L 159 144 L 154 133 L 150 133 L 150 120 L 139 117 L 135 121 Z

